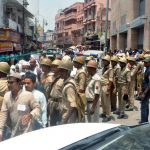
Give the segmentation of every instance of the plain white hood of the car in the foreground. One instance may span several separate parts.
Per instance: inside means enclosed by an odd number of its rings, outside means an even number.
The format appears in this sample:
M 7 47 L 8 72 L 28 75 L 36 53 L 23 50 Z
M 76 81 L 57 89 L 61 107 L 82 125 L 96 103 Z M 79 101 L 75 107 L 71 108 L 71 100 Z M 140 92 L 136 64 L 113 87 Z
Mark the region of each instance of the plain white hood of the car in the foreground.
M 48 127 L 25 133 L 0 142 L 0 149 L 50 149 L 57 150 L 91 135 L 117 127 L 117 124 L 78 123 Z

